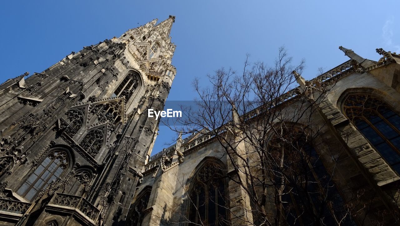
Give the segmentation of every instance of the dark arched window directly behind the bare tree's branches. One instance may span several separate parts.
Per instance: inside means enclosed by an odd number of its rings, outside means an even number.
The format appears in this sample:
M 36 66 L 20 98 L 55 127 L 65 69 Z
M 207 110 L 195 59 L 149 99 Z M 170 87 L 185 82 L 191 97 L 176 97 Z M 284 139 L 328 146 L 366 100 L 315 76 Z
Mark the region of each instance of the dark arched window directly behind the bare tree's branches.
M 288 225 L 313 225 L 322 219 L 333 226 L 334 218 L 352 224 L 332 177 L 302 129 L 290 127 L 275 134 L 266 152 L 260 165 L 272 169 L 266 179 L 272 188 L 282 189 L 281 215 Z

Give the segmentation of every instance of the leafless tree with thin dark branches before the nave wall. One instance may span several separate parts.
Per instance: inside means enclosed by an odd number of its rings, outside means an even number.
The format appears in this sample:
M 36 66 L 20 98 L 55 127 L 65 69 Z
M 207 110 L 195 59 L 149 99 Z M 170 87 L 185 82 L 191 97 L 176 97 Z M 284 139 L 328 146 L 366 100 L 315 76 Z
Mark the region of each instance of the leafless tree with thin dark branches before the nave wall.
M 353 225 L 354 216 L 368 208 L 361 202 L 363 189 L 335 186 L 336 162 L 344 149 L 330 147 L 332 141 L 320 136 L 326 125 L 319 105 L 336 79 L 308 82 L 300 76 L 303 68 L 304 61 L 292 66 L 284 48 L 270 67 L 251 64 L 247 57 L 240 74 L 220 69 L 208 76 L 206 88 L 194 80 L 198 107 L 183 107 L 186 117 L 169 123 L 175 131 L 208 134 L 220 143 L 228 170 L 236 172 L 225 176 L 229 186 L 248 200 L 222 205 L 226 223 Z M 322 158 L 333 163 L 324 165 Z M 197 214 L 193 225 L 212 223 Z

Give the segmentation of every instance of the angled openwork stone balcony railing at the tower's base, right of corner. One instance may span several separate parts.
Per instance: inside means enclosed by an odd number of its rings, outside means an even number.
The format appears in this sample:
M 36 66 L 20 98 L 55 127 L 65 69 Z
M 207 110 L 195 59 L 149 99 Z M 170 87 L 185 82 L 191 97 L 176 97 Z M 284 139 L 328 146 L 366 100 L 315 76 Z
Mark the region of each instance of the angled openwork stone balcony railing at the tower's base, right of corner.
M 100 210 L 98 210 L 95 206 L 93 206 L 82 196 L 73 196 L 68 194 L 57 193 L 50 202 L 50 204 L 75 208 L 94 222 L 96 222 L 96 219 L 100 214 Z

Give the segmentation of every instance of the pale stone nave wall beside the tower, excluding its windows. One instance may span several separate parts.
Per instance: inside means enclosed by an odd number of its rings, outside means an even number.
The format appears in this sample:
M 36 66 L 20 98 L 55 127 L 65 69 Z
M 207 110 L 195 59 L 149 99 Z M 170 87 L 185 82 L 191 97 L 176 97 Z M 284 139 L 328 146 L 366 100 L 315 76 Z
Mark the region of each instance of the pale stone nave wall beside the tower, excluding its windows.
M 333 179 L 338 190 L 350 191 L 342 194 L 342 198 L 350 200 L 356 192 L 362 190 L 360 202 L 371 206 L 353 218 L 354 224 L 378 225 L 380 222 L 380 225 L 397 225 L 395 215 L 399 201 L 396 197 L 399 197 L 400 188 L 398 172 L 344 114 L 343 105 L 349 95 L 370 95 L 384 101 L 398 114 L 400 55 L 377 49 L 382 58 L 370 61 L 350 49 L 340 49 L 350 58 L 349 61 L 310 82 L 297 77 L 300 86 L 296 89 L 303 91 L 309 89 L 308 84 L 315 81 L 336 81 L 336 85 L 327 94 L 328 98 L 319 104 L 317 114 L 312 116 L 314 126 L 324 125 L 316 136 L 319 141 L 315 148 L 326 169 L 335 169 Z M 290 91 L 284 100 L 294 99 L 298 95 L 296 89 Z M 400 145 L 396 148 L 399 149 Z M 133 200 L 135 203 L 136 196 L 142 190 L 151 190 L 148 213 L 142 225 L 188 225 L 185 222 L 192 220 L 189 216 L 192 202 L 189 193 L 193 189 L 196 175 L 204 165 L 213 162 L 220 165 L 221 169 L 226 169 L 224 174 L 232 174 L 232 160 L 221 149 L 215 137 L 197 133 L 183 140 L 178 139 L 171 147 L 152 156 L 144 165 L 143 180 Z M 244 144 L 238 145 L 237 149 L 244 151 L 246 147 Z M 252 222 L 252 214 L 245 211 L 252 208 L 246 192 L 229 180 L 225 181 L 225 186 L 229 191 L 227 197 L 231 224 L 246 225 L 244 222 Z M 273 206 L 270 211 L 274 211 Z

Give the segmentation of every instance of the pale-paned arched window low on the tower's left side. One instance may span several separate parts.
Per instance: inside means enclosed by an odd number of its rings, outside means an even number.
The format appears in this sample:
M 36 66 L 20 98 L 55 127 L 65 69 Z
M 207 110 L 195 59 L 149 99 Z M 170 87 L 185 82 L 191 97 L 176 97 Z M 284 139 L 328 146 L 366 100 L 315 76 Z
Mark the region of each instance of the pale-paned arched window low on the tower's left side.
M 36 194 L 45 188 L 52 180 L 60 177 L 62 172 L 68 168 L 68 154 L 64 150 L 54 150 L 48 153 L 47 157 L 22 184 L 17 193 L 32 201 Z

